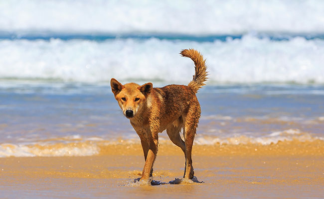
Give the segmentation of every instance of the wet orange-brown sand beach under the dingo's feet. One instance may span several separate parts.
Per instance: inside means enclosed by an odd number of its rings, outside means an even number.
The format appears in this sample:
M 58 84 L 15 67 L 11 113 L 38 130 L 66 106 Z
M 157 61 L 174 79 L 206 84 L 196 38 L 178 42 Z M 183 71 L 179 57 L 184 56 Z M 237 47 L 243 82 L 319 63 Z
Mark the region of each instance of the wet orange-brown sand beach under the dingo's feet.
M 323 198 L 324 142 L 296 142 L 194 145 L 201 184 L 135 186 L 140 144 L 106 146 L 97 156 L 0 158 L 0 198 Z M 183 167 L 182 151 L 161 143 L 154 180 L 181 178 Z

